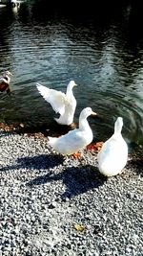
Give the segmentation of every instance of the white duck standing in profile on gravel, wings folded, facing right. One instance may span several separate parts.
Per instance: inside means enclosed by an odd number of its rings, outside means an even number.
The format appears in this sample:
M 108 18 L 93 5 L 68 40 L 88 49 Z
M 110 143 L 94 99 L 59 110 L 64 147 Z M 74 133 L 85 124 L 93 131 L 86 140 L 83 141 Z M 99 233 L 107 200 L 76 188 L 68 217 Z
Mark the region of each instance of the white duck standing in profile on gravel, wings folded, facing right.
M 69 131 L 61 137 L 48 137 L 51 147 L 61 154 L 75 154 L 83 150 L 92 142 L 92 129 L 88 123 L 88 116 L 96 115 L 91 107 L 84 108 L 79 115 L 79 128 Z

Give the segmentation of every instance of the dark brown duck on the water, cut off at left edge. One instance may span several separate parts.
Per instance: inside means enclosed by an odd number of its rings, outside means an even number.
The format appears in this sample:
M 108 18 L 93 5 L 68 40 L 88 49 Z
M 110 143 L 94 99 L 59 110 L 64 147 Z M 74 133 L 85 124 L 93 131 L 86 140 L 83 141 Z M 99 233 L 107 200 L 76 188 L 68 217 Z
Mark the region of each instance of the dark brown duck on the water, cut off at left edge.
M 5 71 L 0 77 L 0 91 L 10 91 L 10 76 L 12 76 L 10 71 Z

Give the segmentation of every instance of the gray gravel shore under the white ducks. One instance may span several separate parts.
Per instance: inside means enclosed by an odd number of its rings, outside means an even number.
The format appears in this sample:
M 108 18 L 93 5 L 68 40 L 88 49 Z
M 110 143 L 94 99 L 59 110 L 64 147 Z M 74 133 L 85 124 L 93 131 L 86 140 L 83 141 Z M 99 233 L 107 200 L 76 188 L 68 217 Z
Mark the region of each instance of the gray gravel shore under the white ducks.
M 95 151 L 63 157 L 2 130 L 0 145 L 1 256 L 143 255 L 142 160 L 107 179 Z

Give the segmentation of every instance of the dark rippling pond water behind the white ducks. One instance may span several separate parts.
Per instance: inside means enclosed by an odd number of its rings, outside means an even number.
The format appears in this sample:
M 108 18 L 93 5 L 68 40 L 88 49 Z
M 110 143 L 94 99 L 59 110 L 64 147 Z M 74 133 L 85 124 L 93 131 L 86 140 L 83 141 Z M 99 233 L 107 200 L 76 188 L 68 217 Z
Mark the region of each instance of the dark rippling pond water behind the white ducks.
M 98 114 L 89 118 L 94 138 L 109 138 L 122 116 L 127 142 L 143 144 L 142 28 L 131 5 L 104 20 L 97 13 L 95 18 L 93 13 L 48 12 L 28 3 L 0 8 L 0 72 L 13 74 L 11 95 L 0 94 L 0 122 L 52 128 L 55 113 L 35 84 L 66 91 L 74 80 L 76 124 L 80 111 L 91 106 Z

